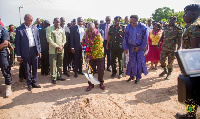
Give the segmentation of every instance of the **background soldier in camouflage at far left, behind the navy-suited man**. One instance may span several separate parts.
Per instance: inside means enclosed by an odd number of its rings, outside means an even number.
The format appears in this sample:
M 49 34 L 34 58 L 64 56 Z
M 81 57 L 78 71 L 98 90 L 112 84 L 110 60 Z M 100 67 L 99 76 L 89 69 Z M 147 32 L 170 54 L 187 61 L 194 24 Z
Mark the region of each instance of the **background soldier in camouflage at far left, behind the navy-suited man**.
M 9 25 L 9 34 L 10 34 L 10 66 L 12 67 L 15 64 L 15 35 L 14 25 Z

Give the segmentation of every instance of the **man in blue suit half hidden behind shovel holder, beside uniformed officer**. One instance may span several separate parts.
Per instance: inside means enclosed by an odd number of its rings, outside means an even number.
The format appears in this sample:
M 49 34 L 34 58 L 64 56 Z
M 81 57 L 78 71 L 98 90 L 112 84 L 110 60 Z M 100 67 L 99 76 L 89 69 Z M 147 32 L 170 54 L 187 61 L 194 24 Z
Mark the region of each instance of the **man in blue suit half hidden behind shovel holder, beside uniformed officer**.
M 107 55 L 107 70 L 108 71 L 111 71 L 110 70 L 111 53 L 110 53 L 110 46 L 108 49 L 106 49 L 106 45 L 107 45 L 108 32 L 109 32 L 110 26 L 111 26 L 111 17 L 107 16 L 106 23 L 101 24 L 100 29 L 102 29 L 104 31 L 104 36 L 102 36 L 102 37 L 104 38 L 104 42 L 103 42 L 104 56 L 106 57 L 106 55 Z M 104 62 L 105 62 L 105 60 L 104 60 Z M 104 63 L 104 65 L 105 65 L 105 63 Z M 104 66 L 104 68 L 105 68 L 105 66 Z

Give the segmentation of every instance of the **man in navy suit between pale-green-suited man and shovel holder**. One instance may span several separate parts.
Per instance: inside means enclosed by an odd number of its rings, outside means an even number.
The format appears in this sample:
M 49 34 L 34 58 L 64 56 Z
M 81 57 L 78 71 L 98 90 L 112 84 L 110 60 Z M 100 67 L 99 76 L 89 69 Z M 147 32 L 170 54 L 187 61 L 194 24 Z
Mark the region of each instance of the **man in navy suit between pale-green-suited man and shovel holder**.
M 82 72 L 82 39 L 85 33 L 85 27 L 83 26 L 83 18 L 77 18 L 78 25 L 71 27 L 70 29 L 70 44 L 71 51 L 74 54 L 74 77 L 78 77 L 79 74 L 83 74 Z M 79 70 L 79 71 L 78 71 Z

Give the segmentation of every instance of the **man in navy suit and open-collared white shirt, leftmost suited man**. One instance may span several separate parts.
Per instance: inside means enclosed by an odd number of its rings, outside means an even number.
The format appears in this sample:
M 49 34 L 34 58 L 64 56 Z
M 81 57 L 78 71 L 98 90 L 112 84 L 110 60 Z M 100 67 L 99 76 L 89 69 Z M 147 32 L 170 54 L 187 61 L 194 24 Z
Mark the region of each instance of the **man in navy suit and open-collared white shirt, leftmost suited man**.
M 24 24 L 16 29 L 15 44 L 17 61 L 24 64 L 28 90 L 31 91 L 32 88 L 41 88 L 37 84 L 38 55 L 41 55 L 41 47 L 37 27 L 32 25 L 33 17 L 26 14 L 24 21 Z

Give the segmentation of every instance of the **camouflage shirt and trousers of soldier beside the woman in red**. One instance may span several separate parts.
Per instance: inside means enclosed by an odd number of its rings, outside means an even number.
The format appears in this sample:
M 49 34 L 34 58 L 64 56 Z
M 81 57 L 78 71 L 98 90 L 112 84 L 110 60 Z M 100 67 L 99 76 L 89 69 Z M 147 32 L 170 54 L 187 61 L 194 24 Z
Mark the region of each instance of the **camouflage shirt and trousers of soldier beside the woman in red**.
M 182 30 L 178 26 L 170 27 L 169 25 L 164 27 L 163 32 L 163 44 L 161 46 L 161 58 L 160 63 L 162 68 L 166 68 L 166 58 L 168 57 L 168 72 L 172 72 L 173 63 L 175 59 L 174 51 L 176 50 L 176 44 L 178 39 L 182 36 Z

